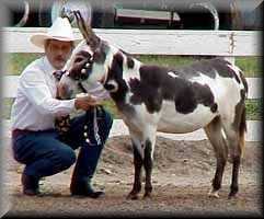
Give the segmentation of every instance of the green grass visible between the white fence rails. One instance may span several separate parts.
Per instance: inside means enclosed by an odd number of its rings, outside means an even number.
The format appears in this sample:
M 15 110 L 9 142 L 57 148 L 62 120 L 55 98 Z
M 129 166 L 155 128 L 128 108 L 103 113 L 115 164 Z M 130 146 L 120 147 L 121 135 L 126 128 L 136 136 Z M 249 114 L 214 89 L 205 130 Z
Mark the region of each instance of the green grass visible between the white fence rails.
M 20 74 L 21 71 L 33 60 L 41 57 L 42 54 L 7 54 L 7 72 L 11 74 Z M 140 55 L 135 56 L 140 61 L 150 65 L 160 65 L 165 67 L 179 67 L 194 62 L 196 59 L 192 56 L 154 56 L 154 55 Z M 236 64 L 243 70 L 245 77 L 262 77 L 263 70 L 261 67 L 261 57 L 238 57 Z M 12 99 L 3 100 L 2 118 L 10 117 L 10 110 L 13 103 Z M 118 112 L 113 101 L 104 102 L 105 107 L 112 113 L 114 118 L 119 118 Z M 246 112 L 248 119 L 260 120 L 262 119 L 263 99 L 248 100 Z

